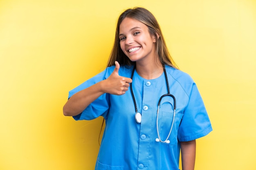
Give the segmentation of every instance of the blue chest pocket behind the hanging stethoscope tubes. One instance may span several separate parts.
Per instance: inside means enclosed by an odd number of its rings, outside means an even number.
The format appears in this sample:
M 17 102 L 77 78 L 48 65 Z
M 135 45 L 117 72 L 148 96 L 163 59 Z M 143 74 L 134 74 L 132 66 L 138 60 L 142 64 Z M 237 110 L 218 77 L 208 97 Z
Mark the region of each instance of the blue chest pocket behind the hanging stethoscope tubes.
M 171 126 L 173 128 L 171 134 L 168 138 L 170 140 L 169 145 L 176 145 L 178 142 L 177 135 L 180 122 L 182 120 L 182 113 L 175 113 L 174 122 L 173 122 L 173 111 L 162 111 L 162 114 L 159 113 L 159 135 L 161 140 L 165 140 L 168 134 L 170 133 Z

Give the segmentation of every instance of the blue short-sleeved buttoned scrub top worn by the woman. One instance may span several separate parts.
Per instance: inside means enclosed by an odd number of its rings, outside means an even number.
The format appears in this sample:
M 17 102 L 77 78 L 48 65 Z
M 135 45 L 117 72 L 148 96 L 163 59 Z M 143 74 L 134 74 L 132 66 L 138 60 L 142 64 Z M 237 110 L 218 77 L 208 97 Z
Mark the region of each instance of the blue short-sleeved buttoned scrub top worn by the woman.
M 102 81 L 112 74 L 115 66 L 85 81 L 69 93 L 76 92 Z M 133 66 L 121 66 L 119 75 L 131 77 Z M 147 80 L 137 74 L 132 78 L 132 89 L 141 124 L 135 120 L 135 106 L 128 90 L 124 95 L 103 94 L 92 102 L 75 120 L 92 120 L 103 116 L 106 128 L 103 133 L 95 170 L 179 170 L 180 142 L 203 137 L 212 131 L 211 123 L 192 78 L 166 65 L 170 93 L 176 98 L 176 115 L 170 143 L 156 142 L 157 105 L 160 96 L 167 94 L 164 73 Z M 168 102 L 166 102 L 168 101 Z M 159 109 L 158 128 L 165 140 L 173 121 L 173 99 L 164 97 Z

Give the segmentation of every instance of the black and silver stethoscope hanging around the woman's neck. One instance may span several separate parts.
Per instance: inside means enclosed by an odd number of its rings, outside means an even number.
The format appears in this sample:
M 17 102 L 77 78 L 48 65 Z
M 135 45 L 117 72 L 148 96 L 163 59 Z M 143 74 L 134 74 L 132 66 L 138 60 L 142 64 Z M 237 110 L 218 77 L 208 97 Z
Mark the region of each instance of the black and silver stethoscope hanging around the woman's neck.
M 135 71 L 135 66 L 132 70 L 132 75 L 131 75 L 131 79 L 133 77 L 133 74 L 134 74 L 134 71 Z M 158 138 L 155 139 L 156 142 L 162 142 L 162 143 L 166 143 L 166 144 L 169 144 L 170 143 L 170 140 L 168 140 L 169 136 L 171 135 L 171 131 L 173 129 L 173 123 L 174 123 L 174 118 L 175 118 L 175 109 L 176 109 L 176 99 L 175 97 L 170 94 L 170 87 L 169 87 L 169 83 L 168 83 L 168 78 L 167 78 L 167 74 L 166 74 L 166 70 L 165 70 L 165 67 L 164 67 L 164 76 L 165 76 L 165 80 L 166 80 L 166 85 L 167 85 L 167 89 L 168 89 L 168 94 L 164 94 L 160 97 L 159 99 L 159 102 L 158 102 L 158 107 L 157 107 L 157 136 Z M 132 83 L 130 83 L 130 89 L 131 89 L 131 93 L 132 93 L 132 99 L 133 99 L 133 102 L 134 102 L 134 106 L 135 106 L 135 120 L 137 123 L 141 123 L 141 113 L 138 112 L 137 110 L 137 105 L 136 105 L 136 101 L 135 101 L 135 97 L 134 97 L 134 94 L 133 94 L 133 91 L 132 91 Z M 170 132 L 168 134 L 168 136 L 166 137 L 166 139 L 163 141 L 161 140 L 160 138 L 160 135 L 159 135 L 159 129 L 158 129 L 158 113 L 159 113 L 159 108 L 162 106 L 160 106 L 160 103 L 161 103 L 161 100 L 162 98 L 164 98 L 165 96 L 171 96 L 173 98 L 173 101 L 174 101 L 174 104 L 173 104 L 173 122 L 172 122 L 172 125 L 171 125 L 171 129 L 170 129 Z M 168 102 L 168 101 L 166 101 Z M 163 102 L 164 103 L 164 102 Z M 162 103 L 162 104 L 163 104 Z M 171 102 L 169 102 L 171 104 Z M 172 105 L 172 104 L 171 104 Z

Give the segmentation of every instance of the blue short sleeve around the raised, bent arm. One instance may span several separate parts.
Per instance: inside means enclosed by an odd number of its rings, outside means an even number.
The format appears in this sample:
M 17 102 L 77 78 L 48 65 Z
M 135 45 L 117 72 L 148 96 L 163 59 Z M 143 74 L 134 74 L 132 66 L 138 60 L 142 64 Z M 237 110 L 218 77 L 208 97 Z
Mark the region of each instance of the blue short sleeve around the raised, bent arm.
M 106 79 L 107 74 L 108 74 L 108 69 L 106 69 L 103 72 L 97 74 L 96 76 L 90 78 L 88 81 L 85 81 L 78 87 L 72 89 L 69 92 L 68 98 L 73 96 L 75 93 L 77 93 L 85 88 L 88 88 L 88 87 L 98 83 L 99 81 Z M 109 94 L 102 94 L 101 96 L 99 96 L 99 98 L 94 100 L 82 113 L 80 113 L 77 116 L 73 116 L 73 118 L 75 120 L 92 120 L 99 116 L 103 116 L 106 118 L 106 114 L 109 109 L 108 98 L 109 98 Z

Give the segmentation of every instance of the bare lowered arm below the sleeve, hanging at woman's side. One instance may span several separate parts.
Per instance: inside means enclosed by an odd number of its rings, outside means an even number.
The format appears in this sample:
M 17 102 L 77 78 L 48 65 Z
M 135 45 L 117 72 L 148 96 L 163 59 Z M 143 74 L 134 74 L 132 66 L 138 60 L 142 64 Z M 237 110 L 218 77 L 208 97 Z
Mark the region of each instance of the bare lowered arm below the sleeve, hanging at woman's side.
M 180 142 L 182 170 L 194 170 L 195 168 L 195 140 Z

